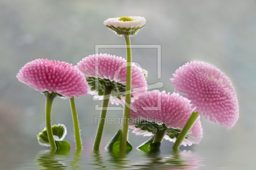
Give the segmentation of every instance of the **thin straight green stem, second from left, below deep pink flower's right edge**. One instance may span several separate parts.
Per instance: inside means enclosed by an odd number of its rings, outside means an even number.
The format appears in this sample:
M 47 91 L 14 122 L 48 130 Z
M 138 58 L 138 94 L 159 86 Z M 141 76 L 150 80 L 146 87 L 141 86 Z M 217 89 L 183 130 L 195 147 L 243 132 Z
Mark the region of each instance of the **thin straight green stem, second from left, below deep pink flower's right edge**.
M 70 107 L 73 117 L 73 124 L 74 124 L 74 131 L 75 131 L 75 139 L 76 139 L 76 149 L 81 150 L 82 149 L 82 142 L 80 137 L 80 129 L 79 129 L 79 123 L 78 123 L 78 117 L 76 112 L 76 104 L 75 104 L 75 98 L 69 98 L 70 100 Z

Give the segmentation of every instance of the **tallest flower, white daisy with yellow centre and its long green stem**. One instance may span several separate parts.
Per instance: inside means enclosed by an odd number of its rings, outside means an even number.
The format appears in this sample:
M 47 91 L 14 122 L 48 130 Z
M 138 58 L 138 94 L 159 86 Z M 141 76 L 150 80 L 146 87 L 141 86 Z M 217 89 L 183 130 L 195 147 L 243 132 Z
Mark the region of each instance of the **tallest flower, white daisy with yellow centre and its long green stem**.
M 104 25 L 116 32 L 118 35 L 124 35 L 126 43 L 126 92 L 125 92 L 125 106 L 124 118 L 122 127 L 122 138 L 120 143 L 120 150 L 124 151 L 126 147 L 128 125 L 130 118 L 131 106 L 131 84 L 132 84 L 132 50 L 130 36 L 135 35 L 143 26 L 145 26 L 146 19 L 144 17 L 117 17 L 109 18 L 104 21 Z

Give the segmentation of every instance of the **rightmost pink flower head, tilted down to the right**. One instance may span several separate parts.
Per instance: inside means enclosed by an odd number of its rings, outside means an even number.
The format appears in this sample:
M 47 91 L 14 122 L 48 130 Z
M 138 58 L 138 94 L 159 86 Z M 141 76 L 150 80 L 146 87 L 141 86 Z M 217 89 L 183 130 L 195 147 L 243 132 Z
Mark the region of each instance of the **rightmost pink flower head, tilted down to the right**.
M 194 112 L 204 119 L 232 128 L 239 117 L 236 93 L 227 76 L 211 64 L 185 63 L 173 74 L 172 83 L 177 92 L 191 100 Z

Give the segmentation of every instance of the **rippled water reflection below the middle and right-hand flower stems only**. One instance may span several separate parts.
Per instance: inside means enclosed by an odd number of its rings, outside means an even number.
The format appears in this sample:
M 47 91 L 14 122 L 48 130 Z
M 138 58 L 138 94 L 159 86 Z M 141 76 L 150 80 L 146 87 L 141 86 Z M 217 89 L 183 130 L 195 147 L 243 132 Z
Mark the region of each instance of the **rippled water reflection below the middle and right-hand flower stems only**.
M 171 151 L 164 155 L 158 151 L 120 152 L 99 151 L 91 152 L 92 164 L 95 169 L 197 169 L 201 158 L 191 151 Z

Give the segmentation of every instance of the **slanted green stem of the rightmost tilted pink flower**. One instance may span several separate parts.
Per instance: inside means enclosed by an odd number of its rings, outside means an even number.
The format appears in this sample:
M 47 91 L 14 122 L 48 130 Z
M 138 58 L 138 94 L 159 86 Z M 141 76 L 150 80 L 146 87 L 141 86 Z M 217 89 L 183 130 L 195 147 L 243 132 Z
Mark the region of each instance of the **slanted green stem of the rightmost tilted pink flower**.
M 185 124 L 184 128 L 181 130 L 180 135 L 177 137 L 176 141 L 174 142 L 172 149 L 178 150 L 182 141 L 185 139 L 185 137 L 188 135 L 189 130 L 192 128 L 192 126 L 195 124 L 197 118 L 198 118 L 198 112 L 192 112 L 190 117 L 188 118 L 188 122 Z

